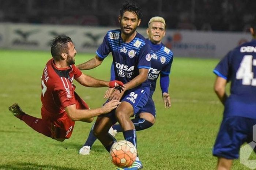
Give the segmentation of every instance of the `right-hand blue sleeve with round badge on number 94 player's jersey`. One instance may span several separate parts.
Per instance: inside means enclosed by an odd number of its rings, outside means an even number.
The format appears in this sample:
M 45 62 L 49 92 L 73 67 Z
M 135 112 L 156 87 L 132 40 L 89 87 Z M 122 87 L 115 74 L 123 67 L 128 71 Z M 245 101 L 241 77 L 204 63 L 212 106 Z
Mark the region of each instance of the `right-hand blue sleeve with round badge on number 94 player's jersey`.
M 151 66 L 151 55 L 150 55 L 150 45 L 145 44 L 139 53 L 139 63 L 138 68 L 147 68 L 150 69 Z

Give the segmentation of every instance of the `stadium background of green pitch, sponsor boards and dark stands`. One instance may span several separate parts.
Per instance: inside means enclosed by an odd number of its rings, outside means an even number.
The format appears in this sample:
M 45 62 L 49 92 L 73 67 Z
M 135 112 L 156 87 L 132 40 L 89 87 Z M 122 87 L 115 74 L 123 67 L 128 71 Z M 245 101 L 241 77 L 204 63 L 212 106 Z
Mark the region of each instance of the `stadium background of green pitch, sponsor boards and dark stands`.
M 123 1 L 117 0 L 0 0 L 0 170 L 115 169 L 97 141 L 91 155 L 80 156 L 91 124 L 76 122 L 71 139 L 63 143 L 27 127 L 8 111 L 18 102 L 40 117 L 41 75 L 50 58 L 49 41 L 67 34 L 75 42 L 76 63 L 95 56 L 102 37 L 118 27 Z M 223 106 L 213 92 L 212 69 L 230 49 L 251 39 L 249 23 L 255 0 L 140 0 L 143 9 L 139 32 L 145 35 L 152 16 L 166 19 L 164 43 L 174 52 L 169 92 L 172 108 L 164 109 L 158 84 L 154 94 L 155 125 L 138 132 L 140 159 L 145 170 L 213 170 L 217 159 L 212 145 Z M 197 58 L 195 58 L 197 57 Z M 109 79 L 111 57 L 84 73 Z M 78 94 L 91 108 L 104 102 L 106 88 L 84 88 Z M 118 134 L 118 140 L 123 139 Z M 251 155 L 251 159 L 255 159 Z M 248 170 L 234 162 L 234 170 Z

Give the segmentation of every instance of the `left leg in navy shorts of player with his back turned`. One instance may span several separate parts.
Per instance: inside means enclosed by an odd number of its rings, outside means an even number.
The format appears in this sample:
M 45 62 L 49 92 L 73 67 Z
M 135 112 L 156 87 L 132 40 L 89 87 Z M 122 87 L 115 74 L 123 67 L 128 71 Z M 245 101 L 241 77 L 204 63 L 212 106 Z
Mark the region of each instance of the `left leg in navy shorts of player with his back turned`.
M 217 170 L 230 170 L 233 159 L 238 159 L 240 147 L 248 136 L 247 119 L 238 116 L 223 118 L 212 151 L 218 157 Z

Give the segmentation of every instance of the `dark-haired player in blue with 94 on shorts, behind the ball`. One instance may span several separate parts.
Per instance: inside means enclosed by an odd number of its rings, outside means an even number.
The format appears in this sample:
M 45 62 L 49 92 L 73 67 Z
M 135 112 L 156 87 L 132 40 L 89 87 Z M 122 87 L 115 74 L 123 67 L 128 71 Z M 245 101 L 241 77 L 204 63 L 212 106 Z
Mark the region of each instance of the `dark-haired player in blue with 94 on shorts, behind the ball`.
M 125 3 L 118 16 L 121 29 L 108 31 L 96 52 L 96 57 L 78 65 L 82 70 L 95 68 L 112 52 L 116 79 L 125 83 L 124 91 L 115 89 L 109 97 L 109 100 L 120 100 L 121 104 L 109 114 L 98 116 L 94 124 L 94 135 L 108 151 L 116 141 L 108 135 L 108 131 L 117 121 L 123 129 L 124 139 L 136 147 L 136 130 L 130 117 L 138 114 L 150 96 L 150 82 L 147 80 L 151 60 L 150 46 L 146 39 L 136 32 L 141 17 L 142 12 L 137 4 Z M 142 163 L 137 157 L 131 167 L 124 169 L 141 168 Z

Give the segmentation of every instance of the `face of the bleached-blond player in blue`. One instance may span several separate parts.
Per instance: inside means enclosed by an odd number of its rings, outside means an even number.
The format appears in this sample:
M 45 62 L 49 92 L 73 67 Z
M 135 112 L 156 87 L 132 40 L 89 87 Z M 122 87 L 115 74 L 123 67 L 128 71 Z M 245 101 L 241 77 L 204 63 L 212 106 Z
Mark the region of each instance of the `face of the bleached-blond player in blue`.
M 147 29 L 148 39 L 154 44 L 160 44 L 165 36 L 165 24 L 162 22 L 152 22 Z

